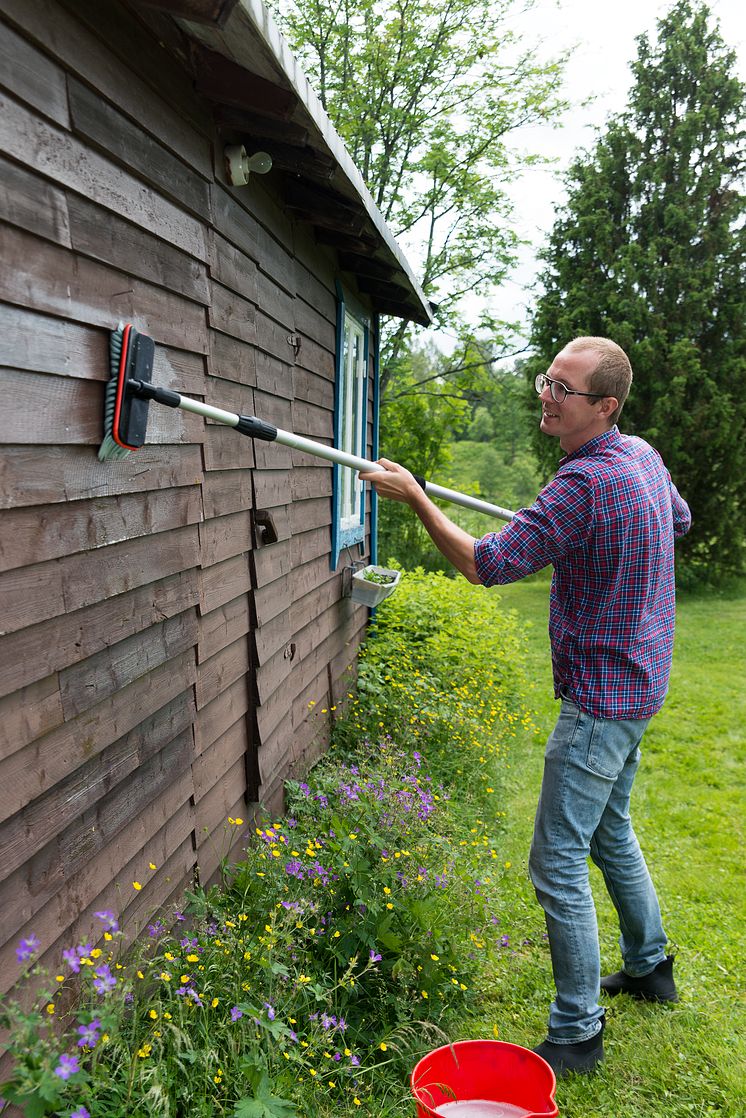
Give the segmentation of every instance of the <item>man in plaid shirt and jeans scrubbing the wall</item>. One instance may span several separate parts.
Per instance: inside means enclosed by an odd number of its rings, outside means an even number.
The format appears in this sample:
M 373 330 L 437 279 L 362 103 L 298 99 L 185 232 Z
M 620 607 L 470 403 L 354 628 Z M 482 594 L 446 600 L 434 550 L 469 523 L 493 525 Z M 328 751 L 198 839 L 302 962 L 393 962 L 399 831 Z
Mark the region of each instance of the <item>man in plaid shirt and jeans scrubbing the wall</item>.
M 603 1059 L 599 985 L 677 999 L 655 890 L 630 821 L 639 745 L 668 689 L 673 647 L 673 541 L 690 525 L 659 454 L 620 434 L 632 382 L 624 351 L 576 338 L 536 379 L 541 430 L 565 453 L 529 509 L 475 540 L 413 475 L 381 459 L 361 473 L 417 513 L 470 582 L 512 582 L 551 565 L 549 637 L 560 713 L 547 743 L 529 871 L 549 936 L 556 997 L 535 1050 L 558 1076 Z M 616 907 L 623 969 L 601 978 L 588 854 Z

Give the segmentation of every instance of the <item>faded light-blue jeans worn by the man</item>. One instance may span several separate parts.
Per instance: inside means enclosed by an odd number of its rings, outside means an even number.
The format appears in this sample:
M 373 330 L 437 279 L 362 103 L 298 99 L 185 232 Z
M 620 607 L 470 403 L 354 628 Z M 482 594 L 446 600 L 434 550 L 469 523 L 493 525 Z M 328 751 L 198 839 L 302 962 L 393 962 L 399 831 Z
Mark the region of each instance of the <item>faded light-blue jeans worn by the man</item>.
M 588 854 L 618 913 L 626 973 L 649 974 L 665 958 L 658 897 L 630 819 L 649 721 L 594 718 L 563 700 L 547 742 L 529 871 L 547 920 L 557 987 L 549 1039 L 559 1043 L 594 1036 L 604 1015 Z

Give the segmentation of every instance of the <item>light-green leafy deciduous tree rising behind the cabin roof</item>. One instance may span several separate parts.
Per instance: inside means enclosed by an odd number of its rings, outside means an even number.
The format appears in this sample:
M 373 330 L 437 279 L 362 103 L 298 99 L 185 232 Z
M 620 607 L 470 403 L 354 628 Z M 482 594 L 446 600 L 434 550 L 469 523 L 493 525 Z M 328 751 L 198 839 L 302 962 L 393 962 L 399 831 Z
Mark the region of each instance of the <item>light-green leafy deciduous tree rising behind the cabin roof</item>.
M 466 332 L 462 301 L 510 268 L 506 184 L 533 157 L 523 125 L 564 107 L 561 60 L 540 63 L 510 26 L 514 0 L 275 0 L 280 25 L 437 319 Z M 498 338 L 498 323 L 483 322 Z M 407 344 L 383 350 L 384 392 Z

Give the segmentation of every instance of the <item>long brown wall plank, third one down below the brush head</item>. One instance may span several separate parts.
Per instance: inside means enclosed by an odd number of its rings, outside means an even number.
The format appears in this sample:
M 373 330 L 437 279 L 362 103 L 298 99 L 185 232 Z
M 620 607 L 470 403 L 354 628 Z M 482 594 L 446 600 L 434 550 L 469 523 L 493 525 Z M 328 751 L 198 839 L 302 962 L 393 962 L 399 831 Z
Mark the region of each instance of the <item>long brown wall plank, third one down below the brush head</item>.
M 198 566 L 196 528 L 162 532 L 159 544 L 155 551 L 152 539 L 143 537 L 6 571 L 0 575 L 0 635 Z

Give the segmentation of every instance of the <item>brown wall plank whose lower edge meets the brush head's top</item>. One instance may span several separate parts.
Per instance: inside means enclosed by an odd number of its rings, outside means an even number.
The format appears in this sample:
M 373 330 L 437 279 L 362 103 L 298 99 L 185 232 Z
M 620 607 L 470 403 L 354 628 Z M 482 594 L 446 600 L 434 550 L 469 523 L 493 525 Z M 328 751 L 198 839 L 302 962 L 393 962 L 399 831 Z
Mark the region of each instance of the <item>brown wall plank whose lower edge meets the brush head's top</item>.
M 157 342 L 207 349 L 205 311 L 180 295 L 11 226 L 0 226 L 0 300 L 106 330 L 129 321 Z

